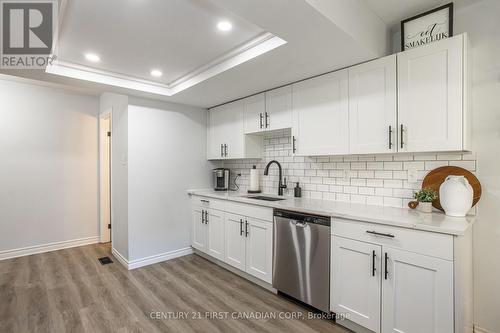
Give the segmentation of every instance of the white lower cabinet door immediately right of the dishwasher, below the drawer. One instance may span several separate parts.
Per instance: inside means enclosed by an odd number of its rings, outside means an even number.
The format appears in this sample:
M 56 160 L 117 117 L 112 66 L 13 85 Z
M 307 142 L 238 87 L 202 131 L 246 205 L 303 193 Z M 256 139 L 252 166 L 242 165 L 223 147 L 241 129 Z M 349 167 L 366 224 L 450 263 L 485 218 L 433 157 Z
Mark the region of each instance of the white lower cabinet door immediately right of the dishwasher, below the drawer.
M 382 247 L 332 237 L 331 310 L 380 332 Z

